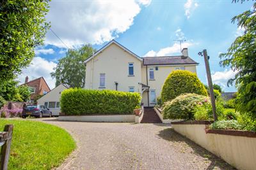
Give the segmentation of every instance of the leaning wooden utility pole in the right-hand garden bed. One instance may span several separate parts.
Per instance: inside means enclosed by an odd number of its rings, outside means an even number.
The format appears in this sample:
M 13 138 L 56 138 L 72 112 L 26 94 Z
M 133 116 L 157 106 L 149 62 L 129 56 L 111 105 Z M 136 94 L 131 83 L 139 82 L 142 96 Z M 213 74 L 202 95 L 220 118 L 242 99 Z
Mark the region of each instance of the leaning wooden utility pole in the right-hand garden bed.
M 213 114 L 213 118 L 214 118 L 214 122 L 215 122 L 218 120 L 218 117 L 216 115 L 216 104 L 215 104 L 215 97 L 214 97 L 214 92 L 213 92 L 213 87 L 212 87 L 212 76 L 211 76 L 207 51 L 203 50 L 203 54 L 204 54 L 204 62 L 205 62 L 205 69 L 206 69 L 209 92 L 210 92 L 210 97 L 211 97 L 211 103 L 212 103 L 212 114 Z

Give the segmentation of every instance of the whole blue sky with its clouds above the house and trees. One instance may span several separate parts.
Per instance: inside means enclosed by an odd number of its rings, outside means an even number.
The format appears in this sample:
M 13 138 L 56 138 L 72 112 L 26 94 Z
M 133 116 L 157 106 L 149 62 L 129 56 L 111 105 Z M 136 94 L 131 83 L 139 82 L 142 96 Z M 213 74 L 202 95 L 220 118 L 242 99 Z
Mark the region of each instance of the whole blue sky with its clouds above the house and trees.
M 207 83 L 204 60 L 197 53 L 207 49 L 210 56 L 212 80 L 226 92 L 227 80 L 234 76 L 230 68 L 220 67 L 218 55 L 226 52 L 232 41 L 243 34 L 243 29 L 231 23 L 231 18 L 252 8 L 253 1 L 52 1 L 46 16 L 52 30 L 47 32 L 45 45 L 35 49 L 31 66 L 23 70 L 18 80 L 44 76 L 51 88 L 52 68 L 65 56 L 67 47 L 77 48 L 91 43 L 99 49 L 111 39 L 143 57 L 145 55 L 177 55 L 179 44 L 174 39 L 186 39 L 189 56 L 199 62 L 197 73 Z

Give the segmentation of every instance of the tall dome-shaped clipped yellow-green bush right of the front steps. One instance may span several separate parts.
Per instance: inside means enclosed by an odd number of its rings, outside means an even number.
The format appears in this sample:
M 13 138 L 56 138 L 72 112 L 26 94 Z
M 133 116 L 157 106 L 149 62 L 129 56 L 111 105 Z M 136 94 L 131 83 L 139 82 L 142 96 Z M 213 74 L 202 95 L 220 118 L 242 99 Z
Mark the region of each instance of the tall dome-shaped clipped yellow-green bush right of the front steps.
M 207 96 L 207 90 L 204 84 L 198 79 L 195 73 L 186 70 L 172 71 L 164 81 L 161 92 L 162 101 L 172 101 L 172 99 L 184 93 Z

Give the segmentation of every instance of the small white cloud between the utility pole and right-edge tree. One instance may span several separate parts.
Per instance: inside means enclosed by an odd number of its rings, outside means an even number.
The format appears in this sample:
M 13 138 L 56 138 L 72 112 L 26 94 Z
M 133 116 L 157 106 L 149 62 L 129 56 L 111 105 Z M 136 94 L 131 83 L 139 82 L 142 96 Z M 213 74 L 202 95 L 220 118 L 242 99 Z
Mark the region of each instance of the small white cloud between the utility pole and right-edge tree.
M 237 71 L 232 71 L 232 69 L 225 69 L 224 71 L 217 71 L 212 74 L 212 81 L 215 84 L 221 85 L 224 89 L 227 87 L 227 81 L 230 78 L 234 78 Z

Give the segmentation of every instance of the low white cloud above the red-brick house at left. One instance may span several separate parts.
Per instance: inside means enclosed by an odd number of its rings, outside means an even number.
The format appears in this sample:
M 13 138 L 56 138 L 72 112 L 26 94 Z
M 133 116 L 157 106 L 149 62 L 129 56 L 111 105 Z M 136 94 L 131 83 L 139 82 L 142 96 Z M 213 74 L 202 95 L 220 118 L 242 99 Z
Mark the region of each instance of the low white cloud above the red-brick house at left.
M 55 87 L 55 80 L 51 78 L 50 73 L 56 65 L 55 62 L 47 61 L 42 57 L 35 57 L 31 65 L 22 70 L 22 74 L 17 77 L 17 80 L 20 83 L 24 83 L 26 76 L 28 76 L 29 81 L 43 76 L 50 89 L 53 89 Z

